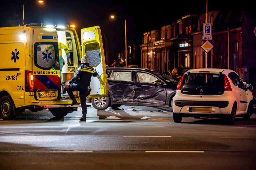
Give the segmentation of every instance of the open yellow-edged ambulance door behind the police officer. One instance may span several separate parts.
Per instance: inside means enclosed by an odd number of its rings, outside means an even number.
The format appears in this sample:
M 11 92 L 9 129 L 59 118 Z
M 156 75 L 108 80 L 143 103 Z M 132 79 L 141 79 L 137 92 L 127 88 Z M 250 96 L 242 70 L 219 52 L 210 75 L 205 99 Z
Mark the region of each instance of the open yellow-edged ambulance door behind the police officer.
M 89 64 L 99 76 L 91 78 L 89 98 L 107 97 L 107 70 L 99 26 L 82 29 L 82 55 L 86 54 Z

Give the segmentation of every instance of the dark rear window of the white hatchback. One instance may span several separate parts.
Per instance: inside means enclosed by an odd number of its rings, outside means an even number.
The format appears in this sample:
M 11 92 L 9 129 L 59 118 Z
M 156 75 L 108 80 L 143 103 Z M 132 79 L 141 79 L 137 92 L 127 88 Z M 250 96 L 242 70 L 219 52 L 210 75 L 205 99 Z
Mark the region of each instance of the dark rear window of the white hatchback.
M 185 74 L 181 93 L 190 95 L 221 95 L 224 93 L 224 75 L 210 73 Z

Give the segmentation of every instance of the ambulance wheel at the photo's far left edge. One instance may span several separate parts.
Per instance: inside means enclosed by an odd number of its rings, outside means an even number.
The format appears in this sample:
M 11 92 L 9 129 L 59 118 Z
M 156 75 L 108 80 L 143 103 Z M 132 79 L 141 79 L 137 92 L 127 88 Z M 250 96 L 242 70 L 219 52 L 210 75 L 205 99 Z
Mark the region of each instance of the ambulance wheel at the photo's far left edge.
M 3 96 L 0 99 L 1 112 L 0 117 L 4 120 L 12 120 L 15 118 L 13 112 L 13 102 L 10 96 Z

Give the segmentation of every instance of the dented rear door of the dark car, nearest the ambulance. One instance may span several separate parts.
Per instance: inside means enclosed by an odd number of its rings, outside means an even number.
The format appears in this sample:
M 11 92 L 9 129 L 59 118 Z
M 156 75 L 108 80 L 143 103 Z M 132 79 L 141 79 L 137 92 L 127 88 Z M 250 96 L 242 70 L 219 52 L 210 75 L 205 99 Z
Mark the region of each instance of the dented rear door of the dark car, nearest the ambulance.
M 131 70 L 112 70 L 108 73 L 109 95 L 113 102 L 134 103 L 134 82 Z

